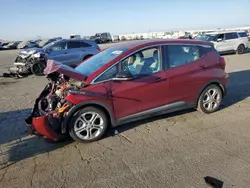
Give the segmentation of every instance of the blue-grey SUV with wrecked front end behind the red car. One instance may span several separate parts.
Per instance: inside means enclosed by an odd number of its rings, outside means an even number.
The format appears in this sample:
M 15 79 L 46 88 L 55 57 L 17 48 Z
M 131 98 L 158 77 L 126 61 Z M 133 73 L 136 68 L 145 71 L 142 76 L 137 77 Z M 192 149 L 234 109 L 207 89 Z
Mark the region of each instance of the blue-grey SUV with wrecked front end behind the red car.
M 92 40 L 61 39 L 43 48 L 31 48 L 18 52 L 11 73 L 43 75 L 48 59 L 76 67 L 82 61 L 100 51 Z

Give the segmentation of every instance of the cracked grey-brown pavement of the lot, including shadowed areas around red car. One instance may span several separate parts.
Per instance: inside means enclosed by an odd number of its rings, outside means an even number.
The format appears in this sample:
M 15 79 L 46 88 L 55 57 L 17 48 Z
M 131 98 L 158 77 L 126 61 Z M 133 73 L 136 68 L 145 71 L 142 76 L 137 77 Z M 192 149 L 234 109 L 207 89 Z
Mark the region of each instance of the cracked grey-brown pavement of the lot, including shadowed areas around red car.
M 16 53 L 0 52 L 0 73 Z M 0 78 L 0 187 L 203 188 L 205 176 L 249 187 L 250 53 L 224 57 L 230 82 L 218 112 L 154 117 L 90 144 L 29 136 L 24 118 L 47 80 Z

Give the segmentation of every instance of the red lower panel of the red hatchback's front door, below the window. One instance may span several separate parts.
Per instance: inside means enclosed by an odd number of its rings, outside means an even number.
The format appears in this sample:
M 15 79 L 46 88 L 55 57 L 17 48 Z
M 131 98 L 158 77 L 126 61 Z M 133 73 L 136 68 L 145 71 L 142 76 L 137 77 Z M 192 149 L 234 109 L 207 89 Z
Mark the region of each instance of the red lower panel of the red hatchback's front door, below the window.
M 122 83 L 112 83 L 116 118 L 122 118 L 167 103 L 166 72 Z

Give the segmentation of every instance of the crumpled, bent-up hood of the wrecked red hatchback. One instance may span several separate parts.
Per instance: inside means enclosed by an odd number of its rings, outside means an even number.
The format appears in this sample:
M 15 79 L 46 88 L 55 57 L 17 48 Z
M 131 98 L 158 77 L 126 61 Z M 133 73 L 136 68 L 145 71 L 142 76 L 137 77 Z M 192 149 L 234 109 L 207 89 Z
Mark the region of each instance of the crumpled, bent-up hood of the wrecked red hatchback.
M 44 69 L 44 74 L 48 75 L 48 74 L 52 74 L 54 72 L 64 74 L 70 78 L 73 78 L 73 79 L 79 80 L 79 81 L 84 81 L 87 78 L 87 76 L 76 71 L 74 68 L 71 68 L 71 67 L 64 65 L 60 62 L 57 62 L 55 60 L 48 60 L 47 66 Z

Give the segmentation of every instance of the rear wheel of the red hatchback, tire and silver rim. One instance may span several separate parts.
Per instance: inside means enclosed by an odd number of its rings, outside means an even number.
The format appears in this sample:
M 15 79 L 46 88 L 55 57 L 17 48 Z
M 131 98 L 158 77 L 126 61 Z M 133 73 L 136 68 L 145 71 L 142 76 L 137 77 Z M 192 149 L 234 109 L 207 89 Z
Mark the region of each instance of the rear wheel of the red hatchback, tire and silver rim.
M 214 97 L 212 97 L 213 96 L 213 93 L 211 94 L 212 91 L 217 91 L 217 94 L 215 94 Z M 211 98 L 208 96 L 208 93 L 210 93 Z M 211 100 L 209 100 L 209 98 Z M 218 110 L 218 108 L 220 107 L 222 98 L 223 98 L 223 94 L 222 94 L 221 88 L 215 84 L 211 84 L 207 86 L 203 90 L 203 92 L 200 94 L 198 102 L 197 102 L 197 110 L 205 114 L 213 113 L 216 110 Z M 212 108 L 209 108 L 209 105 L 211 105 L 210 107 Z

